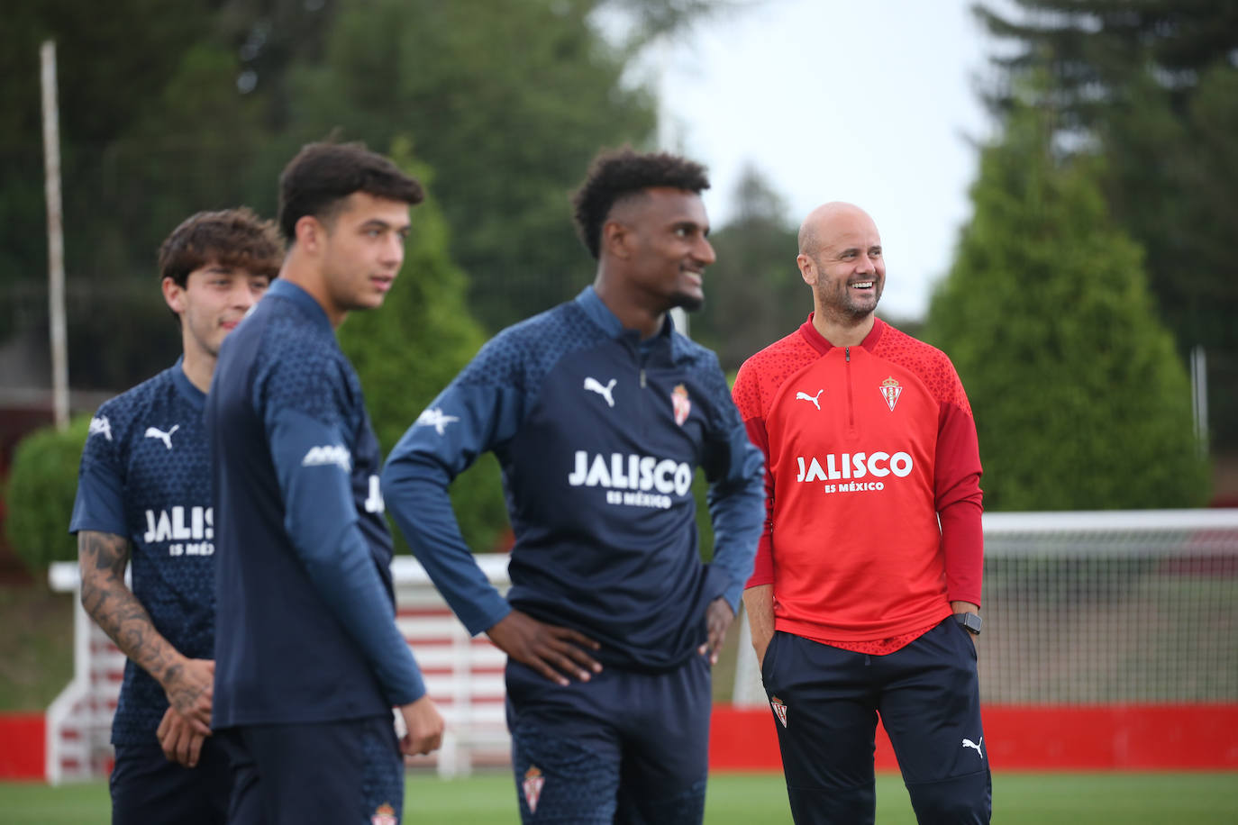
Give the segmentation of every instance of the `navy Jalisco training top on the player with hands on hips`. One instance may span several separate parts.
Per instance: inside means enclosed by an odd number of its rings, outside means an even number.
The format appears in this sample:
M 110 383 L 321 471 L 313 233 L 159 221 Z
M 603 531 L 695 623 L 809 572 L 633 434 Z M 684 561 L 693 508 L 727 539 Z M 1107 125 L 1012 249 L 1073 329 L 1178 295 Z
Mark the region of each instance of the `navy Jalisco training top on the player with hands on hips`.
M 506 600 L 447 495 L 487 450 L 516 539 Z M 711 482 L 709 565 L 697 550 L 698 466 Z M 765 518 L 761 454 L 717 356 L 670 319 L 641 344 L 592 287 L 482 348 L 400 439 L 383 494 L 470 632 L 515 607 L 598 641 L 604 664 L 650 672 L 704 642 L 708 602 L 738 609 Z

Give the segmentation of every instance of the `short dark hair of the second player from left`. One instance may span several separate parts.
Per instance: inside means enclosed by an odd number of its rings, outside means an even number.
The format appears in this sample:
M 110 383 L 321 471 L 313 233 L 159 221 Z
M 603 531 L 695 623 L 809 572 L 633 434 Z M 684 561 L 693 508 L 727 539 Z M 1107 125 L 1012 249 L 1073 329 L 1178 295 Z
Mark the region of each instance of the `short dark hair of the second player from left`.
M 365 143 L 308 143 L 280 174 L 280 233 L 291 244 L 298 220 L 313 215 L 329 221 L 354 192 L 409 205 L 426 198 L 416 178 Z

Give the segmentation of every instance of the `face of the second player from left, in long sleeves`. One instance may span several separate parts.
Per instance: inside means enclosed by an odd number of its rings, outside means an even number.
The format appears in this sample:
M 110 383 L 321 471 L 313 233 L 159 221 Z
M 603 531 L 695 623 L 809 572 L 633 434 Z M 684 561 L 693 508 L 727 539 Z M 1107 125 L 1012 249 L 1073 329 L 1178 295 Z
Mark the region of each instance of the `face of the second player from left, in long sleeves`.
M 308 240 L 319 259 L 321 301 L 332 323 L 338 325 L 353 309 L 383 306 L 404 263 L 409 204 L 354 192 L 331 216 L 301 220 L 316 224 Z

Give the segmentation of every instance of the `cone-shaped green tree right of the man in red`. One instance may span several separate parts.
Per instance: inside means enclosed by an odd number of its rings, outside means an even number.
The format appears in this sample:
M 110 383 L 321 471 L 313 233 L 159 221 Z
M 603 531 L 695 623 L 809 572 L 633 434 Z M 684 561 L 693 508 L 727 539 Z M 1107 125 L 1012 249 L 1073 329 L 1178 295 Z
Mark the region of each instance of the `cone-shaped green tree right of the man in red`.
M 983 150 L 974 216 L 928 312 L 976 416 L 985 510 L 1201 506 L 1190 387 L 1143 250 L 1110 215 L 1099 165 L 1063 157 L 1054 126 L 1015 105 Z

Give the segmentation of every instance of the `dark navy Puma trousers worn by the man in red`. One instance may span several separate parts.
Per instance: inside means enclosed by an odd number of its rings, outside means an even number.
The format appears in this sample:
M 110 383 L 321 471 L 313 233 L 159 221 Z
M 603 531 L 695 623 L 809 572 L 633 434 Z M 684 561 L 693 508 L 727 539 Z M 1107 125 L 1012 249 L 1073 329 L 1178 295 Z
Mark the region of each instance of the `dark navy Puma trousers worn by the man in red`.
M 796 823 L 873 823 L 878 715 L 921 825 L 989 821 L 976 646 L 953 617 L 885 656 L 779 631 L 761 679 Z

